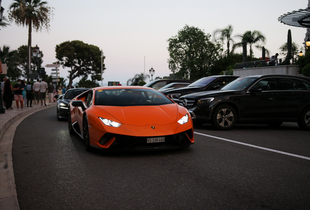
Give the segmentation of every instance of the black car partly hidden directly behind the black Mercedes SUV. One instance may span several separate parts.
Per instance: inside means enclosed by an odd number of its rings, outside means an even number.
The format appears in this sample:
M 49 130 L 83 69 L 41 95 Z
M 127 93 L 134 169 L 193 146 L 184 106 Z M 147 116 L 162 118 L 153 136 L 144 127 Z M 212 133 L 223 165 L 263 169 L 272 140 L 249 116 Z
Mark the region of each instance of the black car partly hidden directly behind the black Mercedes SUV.
M 238 76 L 228 76 L 228 75 L 209 76 L 198 79 L 195 82 L 183 88 L 174 88 L 159 91 L 171 99 L 179 99 L 182 95 L 222 88 L 224 85 L 230 83 L 231 81 L 237 78 Z

